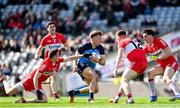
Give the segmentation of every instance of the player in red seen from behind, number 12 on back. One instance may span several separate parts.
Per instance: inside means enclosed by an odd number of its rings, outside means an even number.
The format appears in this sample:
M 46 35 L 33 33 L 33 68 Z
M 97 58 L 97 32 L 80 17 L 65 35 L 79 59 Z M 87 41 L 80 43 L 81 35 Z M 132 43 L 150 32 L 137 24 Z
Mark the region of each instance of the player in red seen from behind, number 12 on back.
M 136 78 L 138 75 L 143 74 L 145 69 L 148 66 L 148 62 L 146 59 L 146 55 L 141 45 L 133 41 L 126 34 L 126 31 L 119 30 L 116 32 L 116 39 L 118 41 L 118 56 L 116 58 L 114 76 L 117 75 L 117 68 L 121 59 L 123 57 L 123 53 L 127 56 L 127 59 L 130 62 L 130 66 L 126 67 L 122 74 L 121 85 L 118 91 L 118 94 L 115 98 L 110 99 L 110 102 L 118 103 L 119 98 L 122 96 L 123 91 L 127 95 L 128 99 L 126 103 L 134 103 L 132 98 L 131 88 L 129 85 L 129 81 L 133 78 Z

